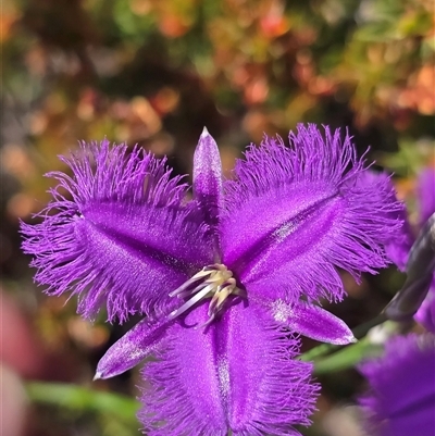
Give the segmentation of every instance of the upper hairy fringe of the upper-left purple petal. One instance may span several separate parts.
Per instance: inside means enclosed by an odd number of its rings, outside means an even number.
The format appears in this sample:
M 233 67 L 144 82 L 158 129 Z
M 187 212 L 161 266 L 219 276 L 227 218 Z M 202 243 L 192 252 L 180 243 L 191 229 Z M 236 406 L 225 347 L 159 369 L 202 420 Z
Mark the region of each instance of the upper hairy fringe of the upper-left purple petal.
M 138 147 L 128 154 L 127 146 L 111 147 L 105 139 L 100 145 L 80 142 L 79 150 L 71 158 L 60 159 L 71 167 L 74 177 L 61 172 L 48 176 L 59 180 L 78 208 L 90 200 L 179 205 L 186 195 L 187 185 L 179 184 L 183 176 L 171 178 L 166 159 L 158 160 Z

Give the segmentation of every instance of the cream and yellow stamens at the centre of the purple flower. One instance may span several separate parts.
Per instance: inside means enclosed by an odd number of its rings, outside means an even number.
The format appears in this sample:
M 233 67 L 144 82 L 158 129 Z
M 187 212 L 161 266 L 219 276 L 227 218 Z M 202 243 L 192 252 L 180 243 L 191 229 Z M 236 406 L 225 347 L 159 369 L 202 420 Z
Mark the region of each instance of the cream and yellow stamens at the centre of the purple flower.
M 174 319 L 189 310 L 198 301 L 211 298 L 209 304 L 209 319 L 202 326 L 209 325 L 224 307 L 225 300 L 231 295 L 244 295 L 236 286 L 233 273 L 222 263 L 204 266 L 191 278 L 170 294 L 170 297 L 187 299 L 186 302 L 170 313 Z

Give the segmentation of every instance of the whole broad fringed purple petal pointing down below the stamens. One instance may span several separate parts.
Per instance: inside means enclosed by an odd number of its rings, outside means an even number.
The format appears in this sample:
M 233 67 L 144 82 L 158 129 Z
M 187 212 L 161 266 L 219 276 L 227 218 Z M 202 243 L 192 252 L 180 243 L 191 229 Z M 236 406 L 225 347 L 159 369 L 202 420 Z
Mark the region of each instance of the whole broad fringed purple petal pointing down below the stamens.
M 187 326 L 203 324 L 207 304 Z M 299 341 L 260 311 L 233 306 L 204 332 L 174 325 L 144 370 L 139 414 L 150 436 L 299 435 L 309 425 L 318 385 L 312 365 L 293 358 Z

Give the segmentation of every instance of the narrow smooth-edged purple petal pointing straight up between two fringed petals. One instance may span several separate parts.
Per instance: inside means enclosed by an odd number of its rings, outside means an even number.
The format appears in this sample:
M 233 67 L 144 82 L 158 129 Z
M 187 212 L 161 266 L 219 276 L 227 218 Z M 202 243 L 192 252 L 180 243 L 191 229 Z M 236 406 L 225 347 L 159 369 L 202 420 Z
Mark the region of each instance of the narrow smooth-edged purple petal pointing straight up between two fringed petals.
M 204 214 L 204 222 L 211 226 L 217 238 L 219 215 L 223 202 L 222 163 L 217 145 L 206 127 L 194 155 L 194 195 Z

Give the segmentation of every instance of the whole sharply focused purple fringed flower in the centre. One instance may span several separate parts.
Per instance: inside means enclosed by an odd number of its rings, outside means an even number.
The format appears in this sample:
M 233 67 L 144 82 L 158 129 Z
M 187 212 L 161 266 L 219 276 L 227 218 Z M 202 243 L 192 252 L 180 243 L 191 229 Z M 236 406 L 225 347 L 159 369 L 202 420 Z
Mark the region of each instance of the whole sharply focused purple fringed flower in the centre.
M 344 297 L 338 269 L 358 279 L 387 264 L 401 205 L 387 182 L 361 183 L 366 169 L 339 130 L 299 125 L 290 142 L 265 137 L 223 180 L 204 129 L 190 201 L 152 155 L 84 145 L 66 160 L 73 178 L 53 174 L 62 190 L 44 222 L 23 225 L 50 292 L 71 289 L 85 316 L 102 306 L 110 321 L 146 315 L 96 377 L 158 358 L 144 369 L 139 418 L 150 435 L 298 435 L 318 385 L 311 364 L 294 359 L 296 335 L 353 340 L 319 303 Z

